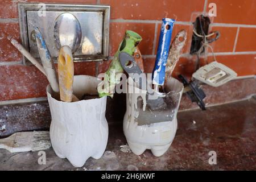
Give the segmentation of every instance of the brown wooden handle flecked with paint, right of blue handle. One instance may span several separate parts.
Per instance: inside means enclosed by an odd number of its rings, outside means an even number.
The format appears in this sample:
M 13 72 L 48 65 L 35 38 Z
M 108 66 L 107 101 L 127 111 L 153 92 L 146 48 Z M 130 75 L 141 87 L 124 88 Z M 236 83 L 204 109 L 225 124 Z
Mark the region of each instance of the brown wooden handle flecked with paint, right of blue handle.
M 175 65 L 177 64 L 177 61 L 179 61 L 179 58 L 182 53 L 182 49 L 185 46 L 186 40 L 187 40 L 187 31 L 181 30 L 177 33 L 174 40 L 172 41 L 167 63 L 166 63 L 166 76 L 165 76 L 164 84 L 166 84 L 168 78 L 171 77 L 172 72 L 174 71 Z

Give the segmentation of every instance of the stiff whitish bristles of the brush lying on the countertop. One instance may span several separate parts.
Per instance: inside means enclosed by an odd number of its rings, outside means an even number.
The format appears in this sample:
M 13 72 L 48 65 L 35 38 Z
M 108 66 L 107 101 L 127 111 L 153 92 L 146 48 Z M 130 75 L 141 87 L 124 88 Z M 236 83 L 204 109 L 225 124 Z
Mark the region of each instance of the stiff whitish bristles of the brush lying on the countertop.
M 32 151 L 46 150 L 51 147 L 49 131 L 33 131 Z

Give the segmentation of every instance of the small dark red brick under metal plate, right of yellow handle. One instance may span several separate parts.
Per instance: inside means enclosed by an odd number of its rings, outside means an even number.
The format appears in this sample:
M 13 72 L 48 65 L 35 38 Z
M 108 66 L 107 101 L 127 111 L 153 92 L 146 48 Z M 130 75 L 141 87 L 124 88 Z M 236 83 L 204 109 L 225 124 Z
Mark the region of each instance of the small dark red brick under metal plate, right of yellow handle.
M 75 75 L 95 76 L 95 61 L 74 63 Z

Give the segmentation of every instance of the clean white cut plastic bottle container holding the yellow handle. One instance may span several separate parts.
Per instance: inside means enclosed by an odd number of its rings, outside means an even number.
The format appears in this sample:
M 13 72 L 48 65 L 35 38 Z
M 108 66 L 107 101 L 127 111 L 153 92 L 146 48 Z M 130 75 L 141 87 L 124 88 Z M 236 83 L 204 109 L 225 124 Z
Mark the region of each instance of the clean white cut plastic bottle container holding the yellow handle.
M 78 98 L 98 95 L 96 77 L 74 76 L 73 94 Z M 90 157 L 99 159 L 108 142 L 108 123 L 105 117 L 106 96 L 77 102 L 58 101 L 51 86 L 47 97 L 51 110 L 50 138 L 53 150 L 60 158 L 67 158 L 75 167 L 84 166 Z

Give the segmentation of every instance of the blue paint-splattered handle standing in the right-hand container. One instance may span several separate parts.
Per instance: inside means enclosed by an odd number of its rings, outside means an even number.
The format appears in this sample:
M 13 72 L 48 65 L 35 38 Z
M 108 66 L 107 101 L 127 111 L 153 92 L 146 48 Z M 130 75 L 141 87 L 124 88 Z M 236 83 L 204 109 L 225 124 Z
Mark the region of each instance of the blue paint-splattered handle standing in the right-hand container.
M 163 18 L 159 36 L 158 52 L 156 54 L 155 68 L 152 72 L 152 84 L 163 85 L 166 75 L 166 63 L 172 38 L 172 28 L 175 20 Z

